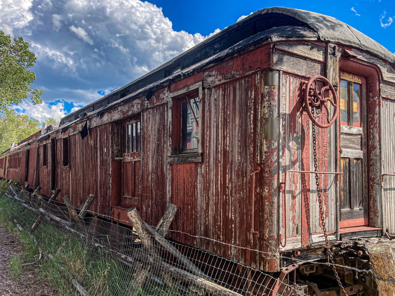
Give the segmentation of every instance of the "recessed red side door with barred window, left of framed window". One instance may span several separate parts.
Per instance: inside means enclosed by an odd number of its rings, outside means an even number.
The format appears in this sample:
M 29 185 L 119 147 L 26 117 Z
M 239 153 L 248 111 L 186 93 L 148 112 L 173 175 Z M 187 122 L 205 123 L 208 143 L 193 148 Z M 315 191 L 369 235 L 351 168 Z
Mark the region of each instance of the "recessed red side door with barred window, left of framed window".
M 121 206 L 140 208 L 141 197 L 141 122 L 134 118 L 122 124 Z

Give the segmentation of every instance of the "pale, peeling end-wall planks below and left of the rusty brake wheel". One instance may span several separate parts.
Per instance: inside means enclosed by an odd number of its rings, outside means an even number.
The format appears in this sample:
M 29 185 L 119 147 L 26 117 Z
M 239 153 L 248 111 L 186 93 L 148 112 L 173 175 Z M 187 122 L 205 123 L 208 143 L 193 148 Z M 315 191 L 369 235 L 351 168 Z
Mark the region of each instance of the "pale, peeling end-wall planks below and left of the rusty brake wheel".
M 320 73 L 316 73 L 320 74 Z M 302 82 L 307 79 L 282 72 L 281 79 L 281 165 L 282 180 L 286 183 L 285 195 L 282 194 L 280 212 L 280 233 L 285 236 L 287 228 L 287 246 L 292 249 L 307 246 L 310 236 L 322 232 L 319 220 L 318 197 L 315 175 L 305 173 L 288 173 L 287 170 L 314 170 L 312 147 L 312 126 L 307 113 L 302 108 Z M 318 127 L 316 128 L 316 130 Z M 317 155 L 318 170 L 335 172 L 335 137 L 334 127 L 318 129 Z M 295 137 L 295 139 L 293 139 Z M 301 139 L 300 146 L 297 143 Z M 320 186 L 325 204 L 325 223 L 328 231 L 336 229 L 336 177 L 320 175 Z M 286 208 L 285 208 L 286 205 Z M 287 213 L 285 213 L 287 211 Z M 286 218 L 286 220 L 285 220 Z M 302 231 L 302 229 L 304 229 Z

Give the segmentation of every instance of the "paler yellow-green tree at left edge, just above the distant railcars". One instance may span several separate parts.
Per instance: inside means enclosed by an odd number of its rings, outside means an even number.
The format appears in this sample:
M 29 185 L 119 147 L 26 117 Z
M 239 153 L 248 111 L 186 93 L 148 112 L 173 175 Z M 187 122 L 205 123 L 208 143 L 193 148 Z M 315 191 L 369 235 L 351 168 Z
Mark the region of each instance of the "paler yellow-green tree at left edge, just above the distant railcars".
M 25 114 L 15 114 L 14 110 L 5 110 L 0 114 L 0 154 L 8 150 L 12 142 L 16 145 L 40 129 L 40 121 Z

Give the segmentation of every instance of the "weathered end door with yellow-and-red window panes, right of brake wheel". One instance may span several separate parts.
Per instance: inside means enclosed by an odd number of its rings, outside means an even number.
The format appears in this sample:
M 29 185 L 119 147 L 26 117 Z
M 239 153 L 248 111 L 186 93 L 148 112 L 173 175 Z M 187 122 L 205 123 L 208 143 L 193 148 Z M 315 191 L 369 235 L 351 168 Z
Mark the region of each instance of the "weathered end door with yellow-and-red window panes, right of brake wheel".
M 366 80 L 340 73 L 340 228 L 368 225 Z

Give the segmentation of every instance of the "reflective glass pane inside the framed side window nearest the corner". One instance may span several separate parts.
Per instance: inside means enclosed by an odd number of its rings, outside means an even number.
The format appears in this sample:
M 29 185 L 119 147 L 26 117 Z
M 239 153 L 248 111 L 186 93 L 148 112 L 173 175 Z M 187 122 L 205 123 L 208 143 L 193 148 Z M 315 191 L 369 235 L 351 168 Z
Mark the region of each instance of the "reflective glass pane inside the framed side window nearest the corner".
M 181 150 L 198 148 L 199 99 L 190 99 L 189 102 L 190 104 L 188 101 L 181 103 Z M 198 122 L 196 122 L 195 116 Z

